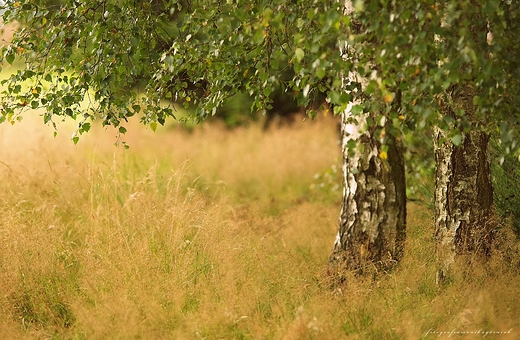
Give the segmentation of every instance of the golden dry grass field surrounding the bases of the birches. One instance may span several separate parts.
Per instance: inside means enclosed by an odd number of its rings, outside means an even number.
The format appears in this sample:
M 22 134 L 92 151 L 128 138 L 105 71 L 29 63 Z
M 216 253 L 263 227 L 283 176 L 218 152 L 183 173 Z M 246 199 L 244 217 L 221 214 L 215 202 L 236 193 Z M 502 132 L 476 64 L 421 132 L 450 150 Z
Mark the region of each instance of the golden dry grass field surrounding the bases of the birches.
M 408 206 L 402 263 L 327 275 L 341 190 L 332 118 L 263 132 L 129 124 L 74 146 L 0 126 L 2 339 L 515 339 L 519 243 L 435 285 L 433 213 Z M 484 334 L 503 332 L 507 334 Z

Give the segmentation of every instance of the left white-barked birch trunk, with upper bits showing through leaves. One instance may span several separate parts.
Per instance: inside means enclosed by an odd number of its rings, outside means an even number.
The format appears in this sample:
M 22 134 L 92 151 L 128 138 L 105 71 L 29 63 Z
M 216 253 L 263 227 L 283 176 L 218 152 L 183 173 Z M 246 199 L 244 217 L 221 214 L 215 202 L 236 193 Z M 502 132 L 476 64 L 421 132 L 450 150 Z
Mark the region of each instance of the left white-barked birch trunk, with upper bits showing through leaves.
M 345 1 L 344 15 L 352 17 L 355 10 Z M 349 42 L 344 42 L 341 54 L 354 64 L 358 61 Z M 377 68 L 372 66 L 372 71 L 377 79 Z M 395 136 L 386 136 L 386 115 L 365 112 L 360 105 L 362 99 L 355 95 L 368 84 L 355 69 L 343 74 L 345 91 L 357 99 L 341 112 L 343 202 L 331 257 L 336 267 L 358 272 L 390 269 L 402 256 L 406 236 L 402 145 Z

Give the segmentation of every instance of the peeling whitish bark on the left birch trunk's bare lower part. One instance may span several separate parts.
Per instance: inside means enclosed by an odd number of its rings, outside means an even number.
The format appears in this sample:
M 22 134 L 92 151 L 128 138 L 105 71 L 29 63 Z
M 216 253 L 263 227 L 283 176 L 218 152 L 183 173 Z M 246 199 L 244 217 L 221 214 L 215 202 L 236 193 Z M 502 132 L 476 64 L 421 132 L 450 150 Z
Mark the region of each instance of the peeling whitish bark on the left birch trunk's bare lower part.
M 363 273 L 386 271 L 402 257 L 406 237 L 406 188 L 402 147 L 391 138 L 388 159 L 370 131 L 342 115 L 343 203 L 331 262 Z M 347 143 L 354 139 L 355 150 Z

